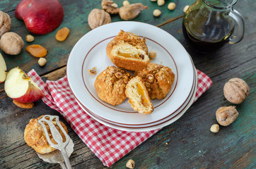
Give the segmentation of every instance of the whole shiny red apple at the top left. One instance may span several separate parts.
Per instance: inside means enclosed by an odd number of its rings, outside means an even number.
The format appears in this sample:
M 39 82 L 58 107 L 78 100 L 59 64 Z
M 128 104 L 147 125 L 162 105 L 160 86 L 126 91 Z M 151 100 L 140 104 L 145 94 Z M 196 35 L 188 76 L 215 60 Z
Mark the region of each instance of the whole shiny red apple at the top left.
M 24 20 L 28 31 L 44 35 L 62 23 L 64 12 L 58 0 L 22 0 L 15 10 L 16 18 Z

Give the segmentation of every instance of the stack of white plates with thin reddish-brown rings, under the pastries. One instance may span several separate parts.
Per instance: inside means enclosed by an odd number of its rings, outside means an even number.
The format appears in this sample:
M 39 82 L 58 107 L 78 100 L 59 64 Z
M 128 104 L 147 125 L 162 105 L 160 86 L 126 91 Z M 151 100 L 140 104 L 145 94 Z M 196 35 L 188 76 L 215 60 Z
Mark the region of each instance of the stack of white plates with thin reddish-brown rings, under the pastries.
M 145 37 L 149 51 L 157 53 L 151 62 L 168 66 L 175 73 L 173 88 L 165 99 L 152 101 L 154 111 L 150 115 L 134 112 L 127 99 L 119 106 L 107 104 L 98 98 L 94 88 L 97 75 L 113 65 L 106 46 L 120 30 Z M 93 67 L 97 75 L 88 73 Z M 88 115 L 104 125 L 126 131 L 142 132 L 170 125 L 191 106 L 197 89 L 197 72 L 180 42 L 158 27 L 138 22 L 110 23 L 88 32 L 72 49 L 66 75 L 71 92 Z

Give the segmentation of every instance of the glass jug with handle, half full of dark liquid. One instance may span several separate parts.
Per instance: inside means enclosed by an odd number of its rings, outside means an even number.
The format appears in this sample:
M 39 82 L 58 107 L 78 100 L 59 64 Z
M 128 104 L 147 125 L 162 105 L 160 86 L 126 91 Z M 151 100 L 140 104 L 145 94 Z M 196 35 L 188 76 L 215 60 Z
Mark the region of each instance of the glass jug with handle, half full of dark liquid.
M 233 9 L 236 1 L 197 0 L 187 9 L 182 31 L 194 49 L 203 53 L 215 51 L 226 43 L 235 44 L 243 39 L 244 20 Z

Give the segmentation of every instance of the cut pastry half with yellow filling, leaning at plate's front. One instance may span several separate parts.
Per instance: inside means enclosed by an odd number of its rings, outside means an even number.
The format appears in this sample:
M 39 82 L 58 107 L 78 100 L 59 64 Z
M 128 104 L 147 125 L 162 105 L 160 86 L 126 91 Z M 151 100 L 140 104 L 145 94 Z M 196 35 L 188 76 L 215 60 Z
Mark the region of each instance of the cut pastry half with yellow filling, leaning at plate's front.
M 125 94 L 129 98 L 128 103 L 131 104 L 134 111 L 142 114 L 150 114 L 153 112 L 153 104 L 149 98 L 141 77 L 133 77 L 129 80 Z

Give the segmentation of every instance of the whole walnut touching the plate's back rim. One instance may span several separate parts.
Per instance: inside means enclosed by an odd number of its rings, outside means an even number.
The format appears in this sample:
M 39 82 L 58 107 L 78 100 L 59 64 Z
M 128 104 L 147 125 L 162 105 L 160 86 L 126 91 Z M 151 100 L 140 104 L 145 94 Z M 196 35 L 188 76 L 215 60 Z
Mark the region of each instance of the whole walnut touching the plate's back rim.
M 88 24 L 91 29 L 95 29 L 96 27 L 105 25 L 107 23 L 111 23 L 111 17 L 110 14 L 104 10 L 94 8 L 88 15 Z

